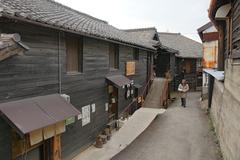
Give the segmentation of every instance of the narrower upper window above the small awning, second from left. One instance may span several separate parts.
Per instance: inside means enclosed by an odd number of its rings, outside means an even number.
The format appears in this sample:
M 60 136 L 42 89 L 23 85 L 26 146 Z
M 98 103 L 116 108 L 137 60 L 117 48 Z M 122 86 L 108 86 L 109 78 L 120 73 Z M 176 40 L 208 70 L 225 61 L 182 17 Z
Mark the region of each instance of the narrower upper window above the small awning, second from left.
M 116 44 L 109 45 L 109 68 L 119 68 L 119 46 Z

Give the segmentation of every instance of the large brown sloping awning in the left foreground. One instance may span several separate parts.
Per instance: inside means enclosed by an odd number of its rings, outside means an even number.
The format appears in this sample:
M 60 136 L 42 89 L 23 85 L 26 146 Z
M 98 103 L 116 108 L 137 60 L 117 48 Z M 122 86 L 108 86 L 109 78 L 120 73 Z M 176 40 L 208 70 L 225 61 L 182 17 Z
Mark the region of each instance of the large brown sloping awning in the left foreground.
M 2 103 L 0 113 L 23 135 L 80 114 L 59 94 Z

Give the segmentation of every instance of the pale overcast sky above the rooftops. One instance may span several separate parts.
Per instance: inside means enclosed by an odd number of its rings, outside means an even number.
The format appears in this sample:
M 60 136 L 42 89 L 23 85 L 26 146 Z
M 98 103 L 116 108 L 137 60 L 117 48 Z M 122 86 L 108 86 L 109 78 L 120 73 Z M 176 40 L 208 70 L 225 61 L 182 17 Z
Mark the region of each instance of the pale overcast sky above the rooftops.
M 209 21 L 210 0 L 56 0 L 119 29 L 156 27 L 200 41 L 197 29 Z

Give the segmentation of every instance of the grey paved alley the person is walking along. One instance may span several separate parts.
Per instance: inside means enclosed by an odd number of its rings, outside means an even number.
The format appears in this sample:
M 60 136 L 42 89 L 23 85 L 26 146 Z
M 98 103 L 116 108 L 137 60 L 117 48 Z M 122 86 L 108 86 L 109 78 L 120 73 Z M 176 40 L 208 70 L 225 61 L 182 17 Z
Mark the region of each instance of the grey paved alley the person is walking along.
M 187 108 L 176 100 L 113 160 L 219 160 L 200 93 L 190 93 Z

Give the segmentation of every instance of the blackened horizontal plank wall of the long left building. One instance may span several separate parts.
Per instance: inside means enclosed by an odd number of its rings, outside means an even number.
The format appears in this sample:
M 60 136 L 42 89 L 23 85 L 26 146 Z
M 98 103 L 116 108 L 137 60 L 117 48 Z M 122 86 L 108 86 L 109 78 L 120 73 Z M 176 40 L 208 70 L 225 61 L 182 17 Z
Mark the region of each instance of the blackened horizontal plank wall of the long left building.
M 59 92 L 58 43 L 59 32 L 24 23 L 4 22 L 0 24 L 4 33 L 19 33 L 24 44 L 30 50 L 24 56 L 15 56 L 0 63 L 0 103 Z M 133 49 L 120 45 L 120 70 L 109 71 L 109 43 L 92 38 L 83 38 L 83 73 L 68 75 L 66 73 L 66 33 L 60 33 L 61 90 L 71 97 L 71 103 L 81 111 L 81 107 L 95 103 L 96 112 L 91 113 L 91 123 L 82 127 L 81 121 L 67 126 L 62 134 L 62 159 L 70 160 L 80 150 L 91 144 L 96 135 L 107 123 L 105 103 L 108 95 L 105 76 L 125 73 L 125 63 L 133 60 Z M 147 52 L 140 51 L 140 59 L 136 62 L 135 82 L 142 85 L 146 82 Z M 121 95 L 120 93 L 119 95 Z M 123 110 L 129 101 L 119 101 Z M 3 122 L 0 120 L 0 129 Z M 5 127 L 5 126 L 4 126 Z M 3 135 L 1 135 L 3 134 Z M 0 133 L 9 141 L 5 132 Z M 0 140 L 0 146 L 6 145 Z M 0 150 L 8 153 L 9 148 Z M 6 154 L 7 155 L 7 154 Z M 5 158 L 7 160 L 7 158 Z

